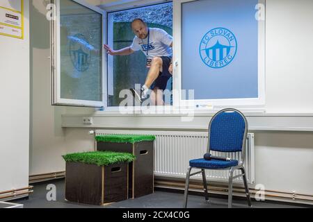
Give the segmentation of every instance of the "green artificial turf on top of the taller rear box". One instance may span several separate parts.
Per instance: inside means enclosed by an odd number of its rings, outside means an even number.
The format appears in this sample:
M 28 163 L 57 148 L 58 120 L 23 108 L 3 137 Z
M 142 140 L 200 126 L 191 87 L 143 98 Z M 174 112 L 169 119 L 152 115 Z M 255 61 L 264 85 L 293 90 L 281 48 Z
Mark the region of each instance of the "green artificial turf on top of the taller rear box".
M 102 135 L 95 137 L 97 142 L 131 143 L 155 140 L 154 135 Z

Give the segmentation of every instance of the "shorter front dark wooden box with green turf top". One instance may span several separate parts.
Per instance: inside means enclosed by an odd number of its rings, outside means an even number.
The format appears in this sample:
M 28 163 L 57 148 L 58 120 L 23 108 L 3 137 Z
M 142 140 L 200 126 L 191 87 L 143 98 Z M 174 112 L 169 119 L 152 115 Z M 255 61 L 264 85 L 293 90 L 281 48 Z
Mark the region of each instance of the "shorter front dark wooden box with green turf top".
M 131 153 L 97 151 L 63 155 L 66 162 L 65 199 L 104 205 L 128 198 Z

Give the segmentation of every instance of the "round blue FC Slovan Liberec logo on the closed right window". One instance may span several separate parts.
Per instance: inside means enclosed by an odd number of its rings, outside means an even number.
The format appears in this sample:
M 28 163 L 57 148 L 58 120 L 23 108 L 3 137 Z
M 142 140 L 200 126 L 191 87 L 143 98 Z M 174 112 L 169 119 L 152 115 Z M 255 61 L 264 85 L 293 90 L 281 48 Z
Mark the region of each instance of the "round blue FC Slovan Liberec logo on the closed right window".
M 201 40 L 200 56 L 208 67 L 219 69 L 232 62 L 237 52 L 237 40 L 227 28 L 211 29 Z

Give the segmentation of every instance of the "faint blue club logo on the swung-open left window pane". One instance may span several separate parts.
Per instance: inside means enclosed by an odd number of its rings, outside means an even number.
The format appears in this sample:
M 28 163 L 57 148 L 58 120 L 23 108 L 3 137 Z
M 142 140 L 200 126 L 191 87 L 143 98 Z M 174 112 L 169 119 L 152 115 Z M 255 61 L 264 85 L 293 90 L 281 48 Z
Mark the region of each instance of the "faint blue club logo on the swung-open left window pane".
M 68 36 L 70 57 L 77 71 L 86 71 L 90 64 L 90 44 L 82 34 Z

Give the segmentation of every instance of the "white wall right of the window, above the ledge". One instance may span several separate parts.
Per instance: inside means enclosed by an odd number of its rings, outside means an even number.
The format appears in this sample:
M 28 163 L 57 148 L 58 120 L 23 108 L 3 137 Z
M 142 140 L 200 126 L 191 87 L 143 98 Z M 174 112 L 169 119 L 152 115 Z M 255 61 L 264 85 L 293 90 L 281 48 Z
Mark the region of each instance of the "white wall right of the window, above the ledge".
M 266 111 L 313 113 L 313 1 L 266 1 Z

